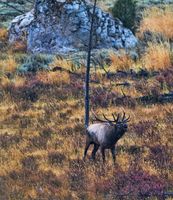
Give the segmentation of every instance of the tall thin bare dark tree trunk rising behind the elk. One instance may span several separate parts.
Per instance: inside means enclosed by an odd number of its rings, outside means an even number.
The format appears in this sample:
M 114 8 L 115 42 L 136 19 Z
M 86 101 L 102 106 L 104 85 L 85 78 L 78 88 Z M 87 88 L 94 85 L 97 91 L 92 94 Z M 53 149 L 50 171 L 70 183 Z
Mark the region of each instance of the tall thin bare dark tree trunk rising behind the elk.
M 89 111 L 90 111 L 90 64 L 91 64 L 91 50 L 92 50 L 92 36 L 93 36 L 93 26 L 94 26 L 94 16 L 96 10 L 97 0 L 94 0 L 93 13 L 91 17 L 91 29 L 89 36 L 89 44 L 88 44 L 88 56 L 87 56 L 87 67 L 86 67 L 86 76 L 85 76 L 85 127 L 87 128 L 89 125 Z

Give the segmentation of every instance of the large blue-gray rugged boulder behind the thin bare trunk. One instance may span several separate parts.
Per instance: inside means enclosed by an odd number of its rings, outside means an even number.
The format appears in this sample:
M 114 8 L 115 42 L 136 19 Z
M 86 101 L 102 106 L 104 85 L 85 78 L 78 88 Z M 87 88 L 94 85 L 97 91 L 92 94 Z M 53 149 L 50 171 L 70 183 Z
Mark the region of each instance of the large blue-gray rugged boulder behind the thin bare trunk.
M 11 22 L 9 40 L 25 38 L 31 52 L 86 50 L 92 9 L 92 4 L 84 0 L 36 0 L 33 11 Z M 136 44 L 135 36 L 118 19 L 96 8 L 94 48 L 134 48 Z

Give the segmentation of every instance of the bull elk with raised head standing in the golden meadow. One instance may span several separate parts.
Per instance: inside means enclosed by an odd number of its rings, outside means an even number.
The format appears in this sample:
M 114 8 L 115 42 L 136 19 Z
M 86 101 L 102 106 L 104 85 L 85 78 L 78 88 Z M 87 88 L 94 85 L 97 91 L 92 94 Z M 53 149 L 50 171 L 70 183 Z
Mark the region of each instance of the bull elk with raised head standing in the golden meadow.
M 130 116 L 126 118 L 125 113 L 123 113 L 122 118 L 120 114 L 118 114 L 117 117 L 115 117 L 114 114 L 112 114 L 112 116 L 113 120 L 108 119 L 103 114 L 104 119 L 101 119 L 94 114 L 95 121 L 99 123 L 91 124 L 86 130 L 84 160 L 90 145 L 94 144 L 92 151 L 93 160 L 95 160 L 96 152 L 100 147 L 103 162 L 105 162 L 105 149 L 110 149 L 113 162 L 115 163 L 115 144 L 127 131 L 127 123 L 130 121 Z

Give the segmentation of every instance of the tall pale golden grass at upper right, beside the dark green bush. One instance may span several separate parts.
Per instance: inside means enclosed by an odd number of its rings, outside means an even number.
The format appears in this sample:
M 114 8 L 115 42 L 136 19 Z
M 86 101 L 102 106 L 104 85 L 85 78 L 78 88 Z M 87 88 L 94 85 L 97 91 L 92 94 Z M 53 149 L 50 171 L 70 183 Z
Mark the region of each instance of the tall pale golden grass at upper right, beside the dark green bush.
M 140 25 L 140 34 L 145 32 L 161 34 L 167 39 L 173 38 L 173 8 L 166 6 L 164 9 L 153 7 L 143 13 L 143 19 Z

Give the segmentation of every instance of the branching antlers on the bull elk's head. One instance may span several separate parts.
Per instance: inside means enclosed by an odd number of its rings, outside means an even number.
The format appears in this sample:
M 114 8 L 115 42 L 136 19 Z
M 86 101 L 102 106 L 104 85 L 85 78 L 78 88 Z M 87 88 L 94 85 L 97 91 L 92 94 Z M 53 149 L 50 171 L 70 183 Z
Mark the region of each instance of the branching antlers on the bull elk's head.
M 130 121 L 130 116 L 126 118 L 125 112 L 123 113 L 123 117 L 122 117 L 121 120 L 120 120 L 120 118 L 121 118 L 120 113 L 118 113 L 117 117 L 115 117 L 115 115 L 112 113 L 113 120 L 108 119 L 108 118 L 105 116 L 105 114 L 103 114 L 104 119 L 101 119 L 101 118 L 99 118 L 99 117 L 94 113 L 94 111 L 92 111 L 92 113 L 93 113 L 93 115 L 94 115 L 94 117 L 95 117 L 94 121 L 108 122 L 108 123 L 127 123 L 127 122 Z

